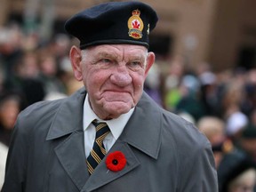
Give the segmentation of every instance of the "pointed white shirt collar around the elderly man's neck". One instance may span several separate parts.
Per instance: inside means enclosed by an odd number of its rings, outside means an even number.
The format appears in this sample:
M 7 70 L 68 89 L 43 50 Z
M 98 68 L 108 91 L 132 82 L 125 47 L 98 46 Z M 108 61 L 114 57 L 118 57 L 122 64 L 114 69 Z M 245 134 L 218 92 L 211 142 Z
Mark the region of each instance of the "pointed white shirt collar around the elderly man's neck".
M 100 119 L 92 110 L 90 103 L 89 103 L 89 96 L 86 94 L 84 100 L 84 117 L 83 117 L 83 124 L 84 124 L 84 131 L 88 128 L 88 126 L 92 123 L 94 119 L 97 119 L 100 122 L 105 122 L 108 124 L 108 127 L 113 134 L 114 138 L 117 140 L 120 134 L 124 130 L 125 124 L 127 124 L 128 120 L 132 116 L 134 108 L 132 108 L 128 113 L 119 116 L 116 119 L 111 119 L 108 121 Z

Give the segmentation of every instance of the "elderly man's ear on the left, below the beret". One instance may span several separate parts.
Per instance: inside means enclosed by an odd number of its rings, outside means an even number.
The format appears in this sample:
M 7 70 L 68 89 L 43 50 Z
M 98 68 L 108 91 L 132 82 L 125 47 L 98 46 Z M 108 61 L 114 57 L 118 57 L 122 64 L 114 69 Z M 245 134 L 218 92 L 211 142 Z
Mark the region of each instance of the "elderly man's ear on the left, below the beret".
M 71 61 L 73 73 L 76 80 L 82 81 L 83 75 L 82 75 L 82 66 L 81 66 L 81 60 L 82 60 L 81 50 L 76 46 L 72 46 L 69 52 L 69 59 Z

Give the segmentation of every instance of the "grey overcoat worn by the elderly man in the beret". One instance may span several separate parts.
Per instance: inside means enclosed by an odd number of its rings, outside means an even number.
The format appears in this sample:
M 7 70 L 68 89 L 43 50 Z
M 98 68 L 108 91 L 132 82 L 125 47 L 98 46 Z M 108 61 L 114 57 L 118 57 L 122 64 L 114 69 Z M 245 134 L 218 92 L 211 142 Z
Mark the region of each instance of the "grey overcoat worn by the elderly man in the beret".
M 89 177 L 82 118 L 85 94 L 82 89 L 20 113 L 3 192 L 218 191 L 209 141 L 193 124 L 159 108 L 145 92 L 109 151 L 124 153 L 124 169 L 108 171 L 105 156 Z

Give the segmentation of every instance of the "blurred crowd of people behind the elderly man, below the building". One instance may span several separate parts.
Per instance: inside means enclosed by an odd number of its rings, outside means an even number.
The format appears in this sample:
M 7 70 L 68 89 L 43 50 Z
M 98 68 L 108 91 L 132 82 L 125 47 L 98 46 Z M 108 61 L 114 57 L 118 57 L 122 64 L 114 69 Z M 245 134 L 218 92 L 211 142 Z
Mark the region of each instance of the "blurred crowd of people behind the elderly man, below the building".
M 0 188 L 19 112 L 82 87 L 68 60 L 72 44 L 76 40 L 65 34 L 45 41 L 36 33 L 25 34 L 17 24 L 0 28 Z M 145 91 L 210 140 L 220 192 L 256 191 L 256 67 L 216 72 L 208 63 L 188 68 L 180 56 L 165 62 L 163 67 L 156 57 Z

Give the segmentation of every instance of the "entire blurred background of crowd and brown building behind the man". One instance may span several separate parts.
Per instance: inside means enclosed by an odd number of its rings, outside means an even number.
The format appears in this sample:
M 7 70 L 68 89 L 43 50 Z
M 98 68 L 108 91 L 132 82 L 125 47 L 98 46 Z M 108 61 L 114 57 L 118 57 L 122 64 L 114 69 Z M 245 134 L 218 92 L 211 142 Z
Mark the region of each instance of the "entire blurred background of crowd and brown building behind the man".
M 102 2 L 107 1 L 1 1 L 0 188 L 20 110 L 36 101 L 67 97 L 82 86 L 74 79 L 68 60 L 70 46 L 78 42 L 65 33 L 65 21 Z M 156 53 L 156 64 L 150 69 L 145 91 L 208 137 L 220 191 L 253 191 L 256 1 L 141 2 L 153 6 L 159 16 L 149 48 Z

